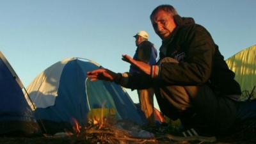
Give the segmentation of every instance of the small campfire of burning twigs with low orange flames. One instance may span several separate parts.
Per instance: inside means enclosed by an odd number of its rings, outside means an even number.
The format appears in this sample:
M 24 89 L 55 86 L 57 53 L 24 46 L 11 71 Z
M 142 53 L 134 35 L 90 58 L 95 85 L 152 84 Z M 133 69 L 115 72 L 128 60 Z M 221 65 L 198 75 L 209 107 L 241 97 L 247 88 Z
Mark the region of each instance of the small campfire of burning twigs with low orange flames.
M 100 112 L 100 113 L 99 113 Z M 99 115 L 100 114 L 100 115 Z M 74 132 L 76 132 L 76 143 L 157 143 L 152 138 L 139 138 L 131 131 L 120 127 L 122 124 L 128 127 L 136 127 L 128 120 L 116 121 L 113 109 L 93 109 L 88 115 L 88 124 L 81 127 L 77 120 L 74 121 Z

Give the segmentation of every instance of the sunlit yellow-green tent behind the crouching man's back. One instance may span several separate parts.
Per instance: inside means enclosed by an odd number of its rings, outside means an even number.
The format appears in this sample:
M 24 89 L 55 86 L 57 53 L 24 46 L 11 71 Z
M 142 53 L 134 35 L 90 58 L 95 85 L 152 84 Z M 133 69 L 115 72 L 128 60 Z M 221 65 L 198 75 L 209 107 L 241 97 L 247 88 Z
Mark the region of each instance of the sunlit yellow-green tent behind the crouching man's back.
M 243 99 L 256 96 L 256 45 L 238 52 L 226 60 L 228 67 L 236 73 L 236 81 L 241 85 Z

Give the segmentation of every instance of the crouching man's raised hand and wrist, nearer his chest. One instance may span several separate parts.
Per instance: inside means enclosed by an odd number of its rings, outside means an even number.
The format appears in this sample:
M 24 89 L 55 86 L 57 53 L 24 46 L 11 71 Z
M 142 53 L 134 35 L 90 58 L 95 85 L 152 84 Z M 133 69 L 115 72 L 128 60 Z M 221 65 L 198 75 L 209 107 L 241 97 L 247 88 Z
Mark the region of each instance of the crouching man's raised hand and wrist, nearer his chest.
M 148 65 L 147 63 L 144 63 L 142 61 L 136 61 L 131 56 L 128 56 L 127 54 L 122 55 L 122 60 L 126 61 L 128 63 L 131 63 L 131 65 L 134 65 L 135 67 L 140 68 L 141 71 L 145 72 L 145 74 L 150 75 L 151 73 L 151 66 Z

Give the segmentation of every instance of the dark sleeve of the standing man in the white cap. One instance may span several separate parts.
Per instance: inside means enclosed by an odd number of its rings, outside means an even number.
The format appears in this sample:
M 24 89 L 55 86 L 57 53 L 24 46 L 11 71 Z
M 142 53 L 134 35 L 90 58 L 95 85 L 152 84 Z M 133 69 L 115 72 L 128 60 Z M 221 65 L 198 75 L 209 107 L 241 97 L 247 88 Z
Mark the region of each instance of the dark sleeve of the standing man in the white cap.
M 152 44 L 148 41 L 143 41 L 138 46 L 138 60 L 148 63 L 150 60 L 152 51 Z

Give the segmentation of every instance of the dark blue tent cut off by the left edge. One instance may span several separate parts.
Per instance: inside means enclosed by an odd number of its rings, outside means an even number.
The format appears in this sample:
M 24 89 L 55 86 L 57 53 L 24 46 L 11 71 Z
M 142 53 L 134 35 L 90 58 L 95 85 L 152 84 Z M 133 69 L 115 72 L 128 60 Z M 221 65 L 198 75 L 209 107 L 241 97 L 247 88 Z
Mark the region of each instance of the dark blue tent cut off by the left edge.
M 31 136 L 40 129 L 29 107 L 19 77 L 0 52 L 0 134 Z M 28 101 L 27 101 L 28 100 Z

